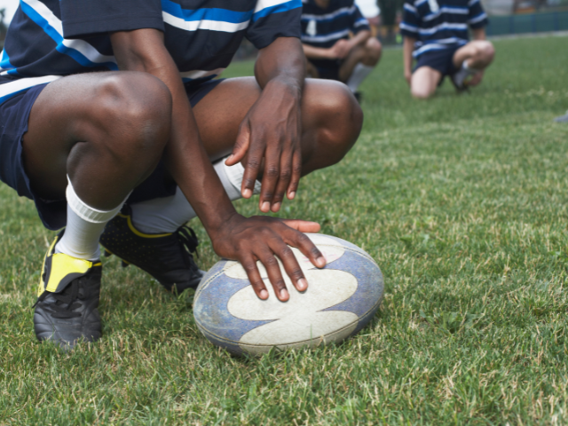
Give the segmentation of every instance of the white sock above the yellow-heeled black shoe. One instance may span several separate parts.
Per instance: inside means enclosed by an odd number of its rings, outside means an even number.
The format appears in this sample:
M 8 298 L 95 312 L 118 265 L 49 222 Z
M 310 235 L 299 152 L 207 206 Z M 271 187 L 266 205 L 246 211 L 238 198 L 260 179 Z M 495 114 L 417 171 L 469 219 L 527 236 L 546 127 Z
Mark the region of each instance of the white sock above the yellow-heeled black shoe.
M 75 193 L 71 179 L 67 177 L 67 226 L 65 233 L 55 245 L 56 253 L 86 260 L 99 260 L 99 237 L 106 222 L 122 208 L 122 203 L 109 211 L 93 209 Z

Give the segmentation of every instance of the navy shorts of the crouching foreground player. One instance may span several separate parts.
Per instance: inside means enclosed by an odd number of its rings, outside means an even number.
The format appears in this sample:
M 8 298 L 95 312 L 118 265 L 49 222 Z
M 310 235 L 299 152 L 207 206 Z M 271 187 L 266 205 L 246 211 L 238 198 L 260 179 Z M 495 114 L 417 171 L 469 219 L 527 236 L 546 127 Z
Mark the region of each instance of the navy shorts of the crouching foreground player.
M 209 80 L 197 86 L 186 86 L 185 90 L 191 105 L 197 105 L 222 81 L 223 79 Z M 29 113 L 46 85 L 34 86 L 0 104 L 0 180 L 15 189 L 20 197 L 33 200 L 43 225 L 55 231 L 67 224 L 67 201 L 43 200 L 37 196 L 31 189 L 22 156 L 22 138 L 28 131 Z M 152 175 L 134 188 L 127 202 L 168 197 L 176 193 L 176 187 L 163 162 L 160 162 Z

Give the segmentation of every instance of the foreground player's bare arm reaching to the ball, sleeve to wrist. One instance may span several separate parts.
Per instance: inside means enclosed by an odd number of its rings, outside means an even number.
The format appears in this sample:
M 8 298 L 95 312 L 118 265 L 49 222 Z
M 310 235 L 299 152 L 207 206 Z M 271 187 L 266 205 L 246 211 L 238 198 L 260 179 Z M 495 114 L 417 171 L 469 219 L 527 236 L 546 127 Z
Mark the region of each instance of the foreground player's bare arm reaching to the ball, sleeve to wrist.
M 138 31 L 144 33 L 133 35 L 135 31 L 131 31 L 116 33 L 111 37 L 114 56 L 122 70 L 152 74 L 170 90 L 170 142 L 165 148 L 164 160 L 171 176 L 211 235 L 235 214 L 233 204 L 226 196 L 201 143 L 179 72 L 163 46 L 162 33 L 146 29 Z

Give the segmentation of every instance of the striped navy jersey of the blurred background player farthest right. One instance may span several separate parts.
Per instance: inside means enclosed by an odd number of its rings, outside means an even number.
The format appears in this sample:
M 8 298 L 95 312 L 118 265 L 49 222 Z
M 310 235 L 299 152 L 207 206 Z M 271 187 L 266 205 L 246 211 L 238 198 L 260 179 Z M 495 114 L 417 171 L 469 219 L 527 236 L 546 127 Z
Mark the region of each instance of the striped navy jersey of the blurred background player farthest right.
M 469 28 L 487 25 L 479 0 L 405 0 L 400 33 L 416 39 L 414 58 L 469 41 Z

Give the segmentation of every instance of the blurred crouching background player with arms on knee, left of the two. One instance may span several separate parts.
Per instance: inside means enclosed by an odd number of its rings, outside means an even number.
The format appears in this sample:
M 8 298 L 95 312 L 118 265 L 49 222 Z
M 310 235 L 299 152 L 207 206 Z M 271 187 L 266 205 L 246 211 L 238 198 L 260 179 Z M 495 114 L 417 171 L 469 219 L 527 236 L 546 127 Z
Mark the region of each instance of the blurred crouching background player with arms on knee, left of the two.
M 307 73 L 346 83 L 360 100 L 359 85 L 381 59 L 381 43 L 353 0 L 305 0 L 302 43 Z

